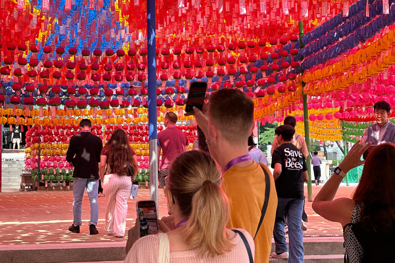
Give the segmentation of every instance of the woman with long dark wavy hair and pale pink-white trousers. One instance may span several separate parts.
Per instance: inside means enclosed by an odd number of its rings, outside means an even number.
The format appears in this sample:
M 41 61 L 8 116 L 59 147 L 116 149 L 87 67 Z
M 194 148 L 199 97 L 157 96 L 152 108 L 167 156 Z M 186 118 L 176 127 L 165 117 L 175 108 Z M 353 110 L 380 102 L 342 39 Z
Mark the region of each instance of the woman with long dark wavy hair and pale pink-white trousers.
M 106 199 L 105 230 L 109 235 L 123 237 L 128 213 L 128 197 L 132 189 L 132 178 L 128 176 L 127 162 L 137 174 L 137 158 L 129 145 L 123 129 L 116 129 L 105 144 L 100 155 L 100 180 Z

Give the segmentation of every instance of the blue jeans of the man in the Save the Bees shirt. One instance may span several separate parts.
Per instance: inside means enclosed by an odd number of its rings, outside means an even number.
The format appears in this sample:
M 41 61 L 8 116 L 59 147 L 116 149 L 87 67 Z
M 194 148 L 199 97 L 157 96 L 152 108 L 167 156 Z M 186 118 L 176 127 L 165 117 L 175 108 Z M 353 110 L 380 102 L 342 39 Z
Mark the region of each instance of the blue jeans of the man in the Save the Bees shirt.
M 288 235 L 290 239 L 289 263 L 303 262 L 303 231 L 300 229 L 304 199 L 278 198 L 274 242 L 276 253 L 288 252 L 284 233 L 284 213 L 288 214 Z

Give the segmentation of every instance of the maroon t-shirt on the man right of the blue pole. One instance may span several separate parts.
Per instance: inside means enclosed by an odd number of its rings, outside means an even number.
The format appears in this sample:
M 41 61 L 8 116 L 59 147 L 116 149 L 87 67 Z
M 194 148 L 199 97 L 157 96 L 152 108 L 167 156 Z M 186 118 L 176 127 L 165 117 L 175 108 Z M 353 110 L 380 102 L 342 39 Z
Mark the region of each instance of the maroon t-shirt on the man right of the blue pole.
M 160 170 L 168 169 L 170 163 L 185 152 L 185 146 L 188 144 L 187 136 L 175 126 L 158 133 L 158 145 L 163 152 Z

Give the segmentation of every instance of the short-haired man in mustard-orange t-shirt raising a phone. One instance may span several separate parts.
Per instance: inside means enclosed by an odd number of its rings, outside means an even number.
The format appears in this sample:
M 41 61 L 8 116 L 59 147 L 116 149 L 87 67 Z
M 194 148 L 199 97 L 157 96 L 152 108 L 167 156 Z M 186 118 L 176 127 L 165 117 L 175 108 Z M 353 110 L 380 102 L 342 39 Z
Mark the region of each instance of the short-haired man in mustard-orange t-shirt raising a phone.
M 250 159 L 247 141 L 253 133 L 254 103 L 238 89 L 212 93 L 203 112 L 194 108 L 194 116 L 207 139 L 211 156 L 221 166 L 223 189 L 229 198 L 228 228 L 242 228 L 255 237 L 255 262 L 269 261 L 277 209 L 274 178 L 267 166 Z M 265 173 L 270 191 L 262 224 L 257 232 L 265 203 Z

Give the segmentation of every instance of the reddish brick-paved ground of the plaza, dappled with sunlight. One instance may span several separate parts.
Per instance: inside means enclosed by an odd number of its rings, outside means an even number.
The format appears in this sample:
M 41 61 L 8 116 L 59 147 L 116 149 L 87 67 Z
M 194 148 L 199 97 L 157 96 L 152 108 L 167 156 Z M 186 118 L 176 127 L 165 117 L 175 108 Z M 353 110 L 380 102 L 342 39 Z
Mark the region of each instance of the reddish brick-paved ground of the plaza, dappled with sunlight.
M 313 186 L 313 197 L 321 186 Z M 340 186 L 336 197 L 350 197 L 355 186 Z M 307 193 L 307 189 L 305 189 Z M 149 190 L 140 189 L 137 200 L 149 199 Z M 105 198 L 99 198 L 99 234 L 89 235 L 89 201 L 85 193 L 82 204 L 83 226 L 80 234 L 67 229 L 73 221 L 72 192 L 5 192 L 0 193 L 0 245 L 124 241 L 106 234 L 104 230 Z M 129 200 L 127 229 L 134 226 L 136 201 Z M 311 202 L 306 202 L 309 216 L 308 230 L 304 236 L 339 236 L 342 227 L 314 213 Z M 167 205 L 163 190 L 159 190 L 159 217 L 167 215 Z

